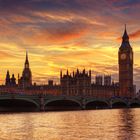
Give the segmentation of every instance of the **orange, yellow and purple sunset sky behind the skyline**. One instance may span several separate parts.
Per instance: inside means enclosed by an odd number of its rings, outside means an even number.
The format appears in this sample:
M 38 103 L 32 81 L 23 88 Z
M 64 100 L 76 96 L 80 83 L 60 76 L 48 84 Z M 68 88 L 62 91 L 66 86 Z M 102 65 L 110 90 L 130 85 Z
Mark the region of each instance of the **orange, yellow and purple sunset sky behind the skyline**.
M 22 74 L 26 50 L 38 84 L 76 68 L 118 81 L 125 23 L 140 87 L 140 0 L 0 0 L 0 84 Z

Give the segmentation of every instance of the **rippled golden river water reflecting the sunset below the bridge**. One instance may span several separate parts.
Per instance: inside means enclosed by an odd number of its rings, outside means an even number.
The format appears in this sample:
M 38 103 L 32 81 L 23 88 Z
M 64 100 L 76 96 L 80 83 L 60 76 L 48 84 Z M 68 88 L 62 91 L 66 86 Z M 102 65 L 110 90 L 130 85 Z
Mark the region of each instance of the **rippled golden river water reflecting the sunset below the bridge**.
M 0 115 L 0 140 L 140 140 L 140 109 Z

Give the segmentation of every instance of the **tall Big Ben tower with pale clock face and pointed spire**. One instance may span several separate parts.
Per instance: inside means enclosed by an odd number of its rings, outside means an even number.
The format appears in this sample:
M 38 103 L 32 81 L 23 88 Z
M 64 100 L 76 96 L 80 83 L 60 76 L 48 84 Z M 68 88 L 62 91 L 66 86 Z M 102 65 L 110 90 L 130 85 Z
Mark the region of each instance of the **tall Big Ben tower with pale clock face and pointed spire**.
M 129 36 L 125 31 L 122 37 L 122 44 L 119 48 L 119 96 L 133 97 L 133 50 L 129 43 Z

